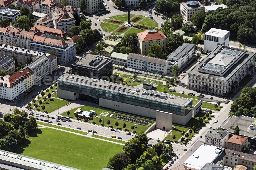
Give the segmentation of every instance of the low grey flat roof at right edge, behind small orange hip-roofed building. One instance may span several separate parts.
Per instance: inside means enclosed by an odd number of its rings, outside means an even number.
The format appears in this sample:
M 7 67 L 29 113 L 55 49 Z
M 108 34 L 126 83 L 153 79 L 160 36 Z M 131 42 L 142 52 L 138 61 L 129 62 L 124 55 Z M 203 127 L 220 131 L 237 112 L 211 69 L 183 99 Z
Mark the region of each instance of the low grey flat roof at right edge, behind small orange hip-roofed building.
M 250 129 L 250 125 L 256 120 L 253 117 L 247 116 L 234 116 L 229 115 L 229 117 L 220 125 L 219 128 L 234 133 L 236 125 L 239 127 L 239 135 L 246 136 L 248 138 L 256 138 L 256 130 Z

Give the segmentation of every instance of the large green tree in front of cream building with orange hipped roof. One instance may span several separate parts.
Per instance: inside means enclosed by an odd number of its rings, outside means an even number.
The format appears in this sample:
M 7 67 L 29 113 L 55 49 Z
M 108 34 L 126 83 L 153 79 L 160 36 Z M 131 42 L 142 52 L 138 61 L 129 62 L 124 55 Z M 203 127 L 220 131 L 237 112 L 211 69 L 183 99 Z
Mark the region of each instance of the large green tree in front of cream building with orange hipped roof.
M 149 46 L 147 55 L 150 57 L 166 59 L 166 53 L 164 52 L 164 48 L 163 48 L 163 46 L 159 45 L 158 43 L 152 43 Z

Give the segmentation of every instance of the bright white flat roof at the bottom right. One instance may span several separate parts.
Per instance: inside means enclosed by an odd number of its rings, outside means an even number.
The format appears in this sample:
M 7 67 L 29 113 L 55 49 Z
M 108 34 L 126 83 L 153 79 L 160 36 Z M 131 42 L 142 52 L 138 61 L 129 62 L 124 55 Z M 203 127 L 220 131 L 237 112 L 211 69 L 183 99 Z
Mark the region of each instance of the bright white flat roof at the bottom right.
M 212 162 L 219 156 L 219 153 L 215 152 L 216 150 L 220 151 L 216 146 L 201 144 L 201 146 L 183 163 L 183 165 L 200 170 L 207 162 Z M 224 150 L 222 150 L 222 152 L 223 151 Z

